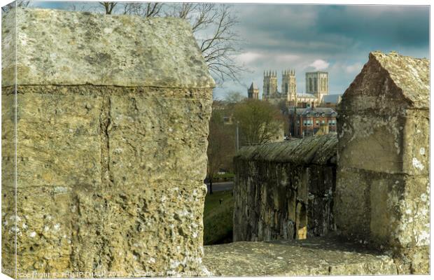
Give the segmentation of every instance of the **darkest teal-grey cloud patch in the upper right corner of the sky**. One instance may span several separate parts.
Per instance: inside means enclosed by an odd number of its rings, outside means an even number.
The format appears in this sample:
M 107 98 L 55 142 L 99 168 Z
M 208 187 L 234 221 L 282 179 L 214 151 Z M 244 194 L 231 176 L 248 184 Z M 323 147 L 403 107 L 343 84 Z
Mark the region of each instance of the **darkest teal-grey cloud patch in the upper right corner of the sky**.
M 426 47 L 428 6 L 324 6 L 318 9 L 318 34 L 337 34 L 365 45 Z

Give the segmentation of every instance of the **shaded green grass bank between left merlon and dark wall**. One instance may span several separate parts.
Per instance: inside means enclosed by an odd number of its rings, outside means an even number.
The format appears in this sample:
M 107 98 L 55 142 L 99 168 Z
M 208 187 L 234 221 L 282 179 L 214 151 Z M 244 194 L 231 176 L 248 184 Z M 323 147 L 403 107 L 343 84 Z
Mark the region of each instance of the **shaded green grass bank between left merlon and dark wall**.
M 223 199 L 221 204 L 220 199 Z M 204 245 L 232 242 L 233 211 L 232 190 L 214 192 L 205 197 Z

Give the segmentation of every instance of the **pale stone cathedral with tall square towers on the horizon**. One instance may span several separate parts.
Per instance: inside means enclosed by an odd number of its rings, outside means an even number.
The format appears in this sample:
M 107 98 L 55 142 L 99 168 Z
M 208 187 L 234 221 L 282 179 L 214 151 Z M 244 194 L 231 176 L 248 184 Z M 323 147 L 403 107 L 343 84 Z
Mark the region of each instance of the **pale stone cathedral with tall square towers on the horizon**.
M 318 106 L 328 94 L 328 73 L 323 71 L 306 73 L 306 92 L 297 92 L 295 70 L 282 71 L 281 91 L 277 90 L 277 72 L 264 71 L 262 99 L 287 106 Z

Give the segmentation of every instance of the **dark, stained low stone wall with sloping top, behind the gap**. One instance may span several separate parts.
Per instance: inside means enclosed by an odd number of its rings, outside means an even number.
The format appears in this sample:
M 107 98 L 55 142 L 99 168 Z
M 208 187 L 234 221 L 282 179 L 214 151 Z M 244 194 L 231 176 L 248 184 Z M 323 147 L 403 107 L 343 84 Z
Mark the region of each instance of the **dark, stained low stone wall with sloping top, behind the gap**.
M 241 148 L 234 241 L 323 236 L 333 228 L 336 135 Z

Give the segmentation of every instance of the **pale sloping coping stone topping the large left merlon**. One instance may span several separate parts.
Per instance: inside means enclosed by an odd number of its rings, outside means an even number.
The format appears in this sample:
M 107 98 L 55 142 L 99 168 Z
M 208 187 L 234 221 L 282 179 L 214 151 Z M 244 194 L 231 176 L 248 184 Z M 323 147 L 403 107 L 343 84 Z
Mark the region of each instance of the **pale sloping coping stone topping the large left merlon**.
M 19 85 L 215 86 L 179 18 L 17 8 L 2 26 L 3 86 L 14 84 L 15 46 Z

